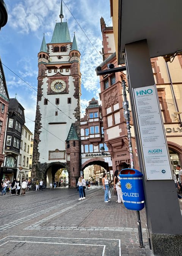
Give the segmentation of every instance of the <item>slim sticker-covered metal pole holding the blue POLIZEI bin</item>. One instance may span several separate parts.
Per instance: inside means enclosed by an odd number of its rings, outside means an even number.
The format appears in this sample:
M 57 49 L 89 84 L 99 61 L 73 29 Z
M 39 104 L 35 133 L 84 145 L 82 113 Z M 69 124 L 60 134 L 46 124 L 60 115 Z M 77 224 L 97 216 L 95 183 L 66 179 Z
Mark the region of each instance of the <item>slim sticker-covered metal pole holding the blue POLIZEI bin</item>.
M 127 128 L 127 136 L 128 136 L 128 142 L 129 142 L 129 152 L 130 152 L 130 165 L 131 168 L 134 168 L 134 162 L 133 162 L 133 150 L 132 150 L 132 136 L 130 132 L 130 110 L 128 109 L 128 101 L 126 98 L 126 82 L 125 80 L 122 80 L 122 89 L 123 89 L 123 109 L 124 109 L 124 117 L 126 120 L 126 128 Z M 141 232 L 141 221 L 140 221 L 140 211 L 137 211 L 137 225 L 138 225 L 138 236 L 139 236 L 139 247 L 143 248 L 143 237 Z

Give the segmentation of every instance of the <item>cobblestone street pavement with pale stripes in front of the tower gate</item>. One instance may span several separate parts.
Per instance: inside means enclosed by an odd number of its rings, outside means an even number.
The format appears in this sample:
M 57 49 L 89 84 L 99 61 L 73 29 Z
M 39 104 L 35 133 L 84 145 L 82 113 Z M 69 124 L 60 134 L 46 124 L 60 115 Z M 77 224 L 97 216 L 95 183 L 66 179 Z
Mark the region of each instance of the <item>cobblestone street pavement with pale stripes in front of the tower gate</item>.
M 144 210 L 145 247 L 139 248 L 135 211 L 116 203 L 113 193 L 104 203 L 100 187 L 78 197 L 76 189 L 62 188 L 1 196 L 0 256 L 153 256 Z

